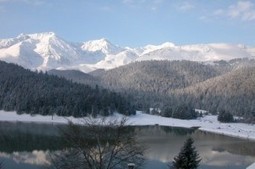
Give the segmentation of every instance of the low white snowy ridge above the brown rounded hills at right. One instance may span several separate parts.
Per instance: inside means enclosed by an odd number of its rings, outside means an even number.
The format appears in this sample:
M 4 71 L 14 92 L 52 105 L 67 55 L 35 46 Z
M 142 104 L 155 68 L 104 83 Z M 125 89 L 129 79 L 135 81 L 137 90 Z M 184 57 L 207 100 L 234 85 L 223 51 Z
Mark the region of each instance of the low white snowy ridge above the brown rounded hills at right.
M 161 45 L 162 46 L 162 45 Z M 137 60 L 190 60 L 199 62 L 252 58 L 251 51 L 244 46 L 229 44 L 201 44 L 175 46 L 163 44 L 164 47 L 144 52 Z

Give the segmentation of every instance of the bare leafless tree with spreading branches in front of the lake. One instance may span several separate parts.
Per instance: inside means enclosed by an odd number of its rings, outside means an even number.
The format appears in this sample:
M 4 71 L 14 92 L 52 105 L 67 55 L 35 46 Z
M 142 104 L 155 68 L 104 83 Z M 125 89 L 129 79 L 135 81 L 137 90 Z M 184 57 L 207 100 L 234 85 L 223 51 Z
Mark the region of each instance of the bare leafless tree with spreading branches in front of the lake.
M 121 121 L 84 120 L 82 125 L 70 122 L 61 129 L 68 147 L 52 156 L 57 169 L 116 169 L 128 163 L 143 164 L 144 147 L 135 133 Z

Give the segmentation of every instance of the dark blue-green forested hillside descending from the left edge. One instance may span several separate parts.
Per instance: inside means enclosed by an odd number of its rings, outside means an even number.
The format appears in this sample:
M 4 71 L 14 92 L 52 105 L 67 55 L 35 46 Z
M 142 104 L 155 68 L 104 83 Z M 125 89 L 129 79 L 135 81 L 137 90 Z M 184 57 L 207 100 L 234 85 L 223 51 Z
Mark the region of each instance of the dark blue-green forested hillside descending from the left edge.
M 135 109 L 122 95 L 64 78 L 35 73 L 0 62 L 0 109 L 18 113 L 63 116 L 133 114 Z

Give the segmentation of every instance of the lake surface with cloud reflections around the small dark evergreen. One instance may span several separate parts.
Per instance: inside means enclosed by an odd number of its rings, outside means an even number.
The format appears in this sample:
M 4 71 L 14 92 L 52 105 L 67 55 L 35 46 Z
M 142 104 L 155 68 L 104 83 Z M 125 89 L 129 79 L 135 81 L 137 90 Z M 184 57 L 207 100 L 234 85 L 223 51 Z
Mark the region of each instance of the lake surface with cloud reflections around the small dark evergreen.
M 146 156 L 164 163 L 179 153 L 187 136 L 192 136 L 202 159 L 201 168 L 240 168 L 255 162 L 255 142 L 171 127 L 138 128 L 139 139 L 149 147 Z M 165 165 L 166 166 L 166 165 Z

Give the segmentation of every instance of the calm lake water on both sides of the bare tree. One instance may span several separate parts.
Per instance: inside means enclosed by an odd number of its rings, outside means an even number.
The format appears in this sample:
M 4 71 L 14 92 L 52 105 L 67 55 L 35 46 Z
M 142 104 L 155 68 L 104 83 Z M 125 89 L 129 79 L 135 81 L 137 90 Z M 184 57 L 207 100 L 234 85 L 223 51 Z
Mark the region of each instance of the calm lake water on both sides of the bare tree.
M 255 142 L 182 128 L 135 127 L 148 147 L 146 169 L 167 169 L 188 136 L 202 157 L 201 169 L 245 169 L 255 162 Z M 64 147 L 52 124 L 0 122 L 0 161 L 5 169 L 40 169 L 50 151 Z

